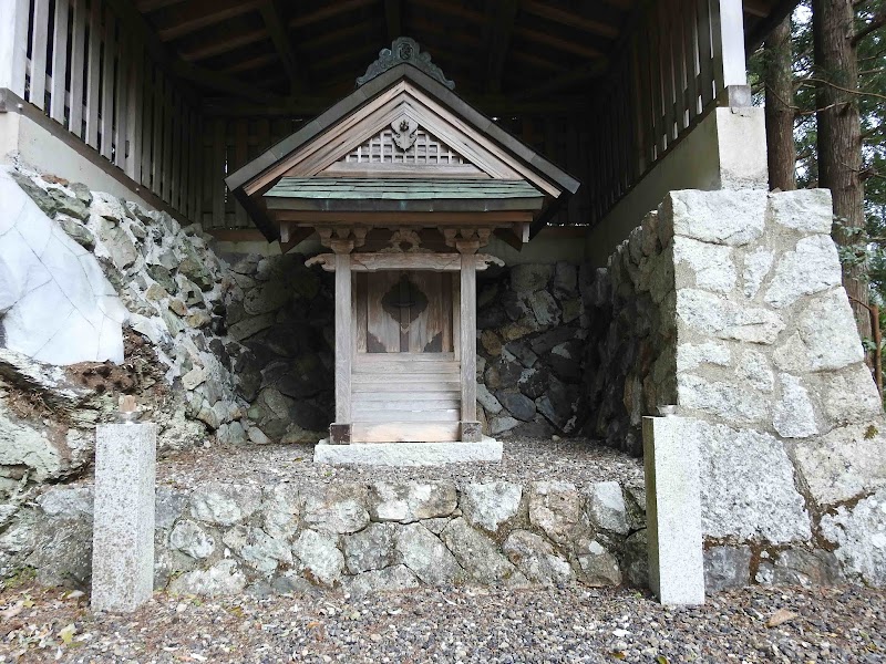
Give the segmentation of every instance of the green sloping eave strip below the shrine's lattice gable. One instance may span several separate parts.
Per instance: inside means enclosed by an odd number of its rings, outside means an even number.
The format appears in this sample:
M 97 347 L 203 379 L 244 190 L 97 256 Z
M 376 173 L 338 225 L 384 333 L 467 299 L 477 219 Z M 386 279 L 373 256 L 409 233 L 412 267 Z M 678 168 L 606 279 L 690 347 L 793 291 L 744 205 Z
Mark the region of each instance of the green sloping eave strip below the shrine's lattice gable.
M 268 209 L 322 211 L 490 211 L 540 209 L 526 180 L 282 177 L 264 196 Z

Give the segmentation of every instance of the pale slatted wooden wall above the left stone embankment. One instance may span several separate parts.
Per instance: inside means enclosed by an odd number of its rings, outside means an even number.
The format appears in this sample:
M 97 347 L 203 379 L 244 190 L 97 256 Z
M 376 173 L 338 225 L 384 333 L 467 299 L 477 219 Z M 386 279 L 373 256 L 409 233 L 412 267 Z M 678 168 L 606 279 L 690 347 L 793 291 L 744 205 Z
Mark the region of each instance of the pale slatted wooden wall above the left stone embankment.
M 200 116 L 102 0 L 30 0 L 24 98 L 184 217 L 199 218 Z

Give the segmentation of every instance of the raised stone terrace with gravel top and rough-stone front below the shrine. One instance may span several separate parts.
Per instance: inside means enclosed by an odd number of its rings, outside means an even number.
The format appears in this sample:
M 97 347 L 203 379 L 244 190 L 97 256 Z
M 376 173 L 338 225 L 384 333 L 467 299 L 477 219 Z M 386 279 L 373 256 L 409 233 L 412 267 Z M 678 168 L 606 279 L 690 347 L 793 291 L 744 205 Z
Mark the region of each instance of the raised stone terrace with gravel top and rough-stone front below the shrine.
M 155 590 L 646 583 L 636 459 L 580 440 L 505 443 L 501 463 L 440 467 L 336 467 L 311 463 L 311 453 L 275 446 L 161 460 Z M 0 567 L 85 587 L 92 495 L 87 480 L 47 489 L 0 536 Z

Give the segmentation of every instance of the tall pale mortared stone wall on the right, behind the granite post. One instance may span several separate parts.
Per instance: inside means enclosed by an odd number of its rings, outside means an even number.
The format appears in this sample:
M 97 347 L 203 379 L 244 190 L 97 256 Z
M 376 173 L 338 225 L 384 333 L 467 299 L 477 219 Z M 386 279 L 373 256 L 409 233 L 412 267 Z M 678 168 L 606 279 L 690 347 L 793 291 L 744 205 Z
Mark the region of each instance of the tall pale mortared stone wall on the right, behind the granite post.
M 679 405 L 712 590 L 886 584 L 886 419 L 831 226 L 825 190 L 673 191 L 583 289 L 588 429 L 638 453 Z

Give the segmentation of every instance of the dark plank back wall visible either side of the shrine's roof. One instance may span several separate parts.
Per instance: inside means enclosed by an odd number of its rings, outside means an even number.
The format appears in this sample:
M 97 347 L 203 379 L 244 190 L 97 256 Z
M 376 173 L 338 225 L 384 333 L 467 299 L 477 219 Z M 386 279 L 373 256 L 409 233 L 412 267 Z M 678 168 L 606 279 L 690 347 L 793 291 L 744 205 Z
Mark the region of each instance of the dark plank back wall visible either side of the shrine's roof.
M 251 228 L 253 224 L 243 207 L 225 187 L 225 176 L 256 158 L 268 147 L 297 132 L 310 118 L 268 120 L 228 118 L 207 120 L 203 133 L 203 227 Z M 565 168 L 583 183 L 589 168 L 589 134 L 585 129 L 587 116 L 517 116 L 502 117 L 501 126 L 533 147 L 548 159 Z M 589 222 L 590 200 L 581 187 L 568 206 L 554 219 L 554 225 L 583 225 Z

